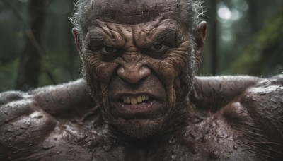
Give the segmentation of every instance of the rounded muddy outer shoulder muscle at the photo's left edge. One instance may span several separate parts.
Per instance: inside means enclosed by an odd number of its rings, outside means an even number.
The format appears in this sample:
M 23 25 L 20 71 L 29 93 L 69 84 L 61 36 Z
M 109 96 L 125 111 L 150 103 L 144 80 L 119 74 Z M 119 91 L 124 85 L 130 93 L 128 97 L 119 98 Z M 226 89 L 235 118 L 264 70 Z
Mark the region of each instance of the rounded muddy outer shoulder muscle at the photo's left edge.
M 30 155 L 56 125 L 32 95 L 17 91 L 0 94 L 0 157 L 13 160 Z

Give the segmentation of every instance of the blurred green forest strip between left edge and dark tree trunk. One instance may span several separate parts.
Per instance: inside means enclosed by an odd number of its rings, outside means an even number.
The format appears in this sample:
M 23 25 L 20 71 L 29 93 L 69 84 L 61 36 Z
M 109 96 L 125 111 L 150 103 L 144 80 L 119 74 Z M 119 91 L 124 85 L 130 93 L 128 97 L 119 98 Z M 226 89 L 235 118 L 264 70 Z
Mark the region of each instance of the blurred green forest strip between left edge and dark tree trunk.
M 26 4 L 23 0 L 0 0 L 0 91 L 15 88 L 18 53 L 24 44 Z

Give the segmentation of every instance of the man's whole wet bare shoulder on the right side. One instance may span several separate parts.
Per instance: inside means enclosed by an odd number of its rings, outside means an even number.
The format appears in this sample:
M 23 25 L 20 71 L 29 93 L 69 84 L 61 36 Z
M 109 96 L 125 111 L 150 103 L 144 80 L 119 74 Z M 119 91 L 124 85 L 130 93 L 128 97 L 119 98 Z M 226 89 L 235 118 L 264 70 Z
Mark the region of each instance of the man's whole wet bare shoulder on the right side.
M 243 150 L 259 160 L 283 159 L 283 75 L 197 77 L 190 100 L 222 116 Z

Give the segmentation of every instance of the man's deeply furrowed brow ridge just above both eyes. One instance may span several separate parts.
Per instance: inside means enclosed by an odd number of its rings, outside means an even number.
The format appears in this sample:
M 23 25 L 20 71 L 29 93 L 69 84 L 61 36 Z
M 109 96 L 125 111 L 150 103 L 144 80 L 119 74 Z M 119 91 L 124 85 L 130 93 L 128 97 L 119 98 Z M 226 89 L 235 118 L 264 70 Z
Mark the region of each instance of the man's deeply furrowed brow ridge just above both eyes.
M 171 20 L 165 20 L 168 22 L 160 22 L 156 28 L 146 28 L 146 26 L 152 26 L 152 23 L 142 23 L 137 25 L 121 25 L 113 23 L 105 23 L 105 27 L 93 25 L 89 28 L 88 34 L 86 35 L 86 47 L 101 45 L 108 47 L 115 47 L 117 49 L 126 50 L 127 52 L 134 52 L 129 48 L 136 47 L 137 49 L 145 49 L 151 47 L 154 44 L 166 43 L 168 47 L 173 48 L 178 44 L 182 43 L 184 35 L 180 33 L 178 28 L 173 28 L 171 25 L 175 23 Z M 99 23 L 101 24 L 101 22 Z M 141 26 L 145 26 L 142 28 Z M 112 26 L 108 28 L 107 26 Z M 114 27 L 113 27 L 114 26 Z M 103 29 L 103 30 L 100 30 Z M 115 35 L 113 34 L 115 33 Z M 145 34 L 144 34 L 145 33 Z M 125 44 L 121 43 L 125 42 Z

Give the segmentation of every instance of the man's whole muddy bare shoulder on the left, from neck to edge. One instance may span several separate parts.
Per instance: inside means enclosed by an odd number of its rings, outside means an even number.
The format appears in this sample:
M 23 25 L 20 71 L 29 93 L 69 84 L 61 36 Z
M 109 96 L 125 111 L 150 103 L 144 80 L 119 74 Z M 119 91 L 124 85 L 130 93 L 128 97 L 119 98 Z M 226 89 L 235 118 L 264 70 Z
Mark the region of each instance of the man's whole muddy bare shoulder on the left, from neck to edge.
M 85 138 L 81 132 L 86 128 L 71 121 L 83 118 L 94 107 L 83 80 L 28 93 L 0 93 L 0 158 L 32 160 L 45 155 L 51 158 L 62 155 L 62 150 L 67 158 L 70 148 L 82 150 L 79 143 L 71 141 Z

